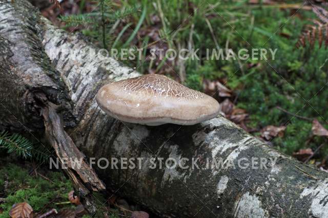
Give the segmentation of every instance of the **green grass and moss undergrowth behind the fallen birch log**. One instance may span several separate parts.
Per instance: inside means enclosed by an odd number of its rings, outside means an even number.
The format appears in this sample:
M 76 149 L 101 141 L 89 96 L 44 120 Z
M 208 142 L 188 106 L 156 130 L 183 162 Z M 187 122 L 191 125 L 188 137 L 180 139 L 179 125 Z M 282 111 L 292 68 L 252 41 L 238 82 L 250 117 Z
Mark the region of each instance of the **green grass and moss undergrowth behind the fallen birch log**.
M 106 2 L 110 4 L 111 1 Z M 274 1 L 273 5 L 265 5 L 261 1 L 258 4 L 248 3 L 214 0 L 119 1 L 113 3 L 117 13 L 128 8 L 139 8 L 140 13 L 131 13 L 124 19 L 112 13 L 110 20 L 116 26 L 108 25 L 107 30 L 111 31 L 106 37 L 114 42 L 108 41 L 107 46 L 109 49 L 142 48 L 140 58 L 121 61 L 143 74 L 159 73 L 174 77 L 195 90 L 206 91 L 204 80 L 225 81 L 224 85 L 234 91 L 236 106 L 250 115 L 247 125 L 257 129 L 255 135 L 259 135 L 259 130 L 267 125 L 286 125 L 284 136 L 274 138 L 271 144 L 287 154 L 301 148 L 315 149 L 319 144 L 318 139 L 311 138 L 311 123 L 281 112 L 276 107 L 298 116 L 316 118 L 324 126 L 328 124 L 328 112 L 323 106 L 323 102 L 328 100 L 328 92 L 325 91 L 328 89 L 326 50 L 324 46 L 319 48 L 320 40 L 306 43 L 308 40 L 303 39 L 305 46 L 296 46 L 303 28 L 313 25 L 313 20 L 318 19 L 317 15 L 309 5 L 303 6 L 299 1 L 284 4 Z M 99 10 L 103 8 L 95 9 Z M 103 33 L 95 30 L 104 24 L 99 21 L 100 17 L 96 17 L 98 26 L 81 29 L 89 36 L 91 31 L 91 36 L 99 42 Z M 176 51 L 199 49 L 199 60 L 150 60 L 151 48 Z M 267 60 L 205 58 L 206 49 L 219 48 L 230 48 L 235 52 L 239 49 L 251 51 L 252 48 L 277 49 L 277 52 L 275 59 L 268 55 Z M 328 148 L 320 152 L 322 156 L 327 153 Z

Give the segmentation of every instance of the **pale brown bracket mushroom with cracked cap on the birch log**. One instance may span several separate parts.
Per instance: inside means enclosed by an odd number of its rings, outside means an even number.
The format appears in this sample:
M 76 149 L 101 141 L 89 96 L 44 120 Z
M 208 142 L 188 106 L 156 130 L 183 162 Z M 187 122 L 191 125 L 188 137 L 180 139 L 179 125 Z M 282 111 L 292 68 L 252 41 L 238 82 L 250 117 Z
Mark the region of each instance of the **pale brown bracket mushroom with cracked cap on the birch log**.
M 219 103 L 169 77 L 148 74 L 104 85 L 99 107 L 121 121 L 145 125 L 193 125 L 216 117 Z

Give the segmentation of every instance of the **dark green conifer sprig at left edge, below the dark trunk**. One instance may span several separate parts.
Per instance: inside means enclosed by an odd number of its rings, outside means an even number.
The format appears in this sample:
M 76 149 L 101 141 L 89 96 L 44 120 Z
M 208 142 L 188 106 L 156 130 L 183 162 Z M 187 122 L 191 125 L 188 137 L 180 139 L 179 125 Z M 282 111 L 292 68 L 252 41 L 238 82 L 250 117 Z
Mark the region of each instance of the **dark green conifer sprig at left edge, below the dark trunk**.
M 36 145 L 19 134 L 0 133 L 0 148 L 7 149 L 9 153 L 15 152 L 25 159 L 33 158 L 37 161 L 46 161 L 49 157 L 49 149 Z

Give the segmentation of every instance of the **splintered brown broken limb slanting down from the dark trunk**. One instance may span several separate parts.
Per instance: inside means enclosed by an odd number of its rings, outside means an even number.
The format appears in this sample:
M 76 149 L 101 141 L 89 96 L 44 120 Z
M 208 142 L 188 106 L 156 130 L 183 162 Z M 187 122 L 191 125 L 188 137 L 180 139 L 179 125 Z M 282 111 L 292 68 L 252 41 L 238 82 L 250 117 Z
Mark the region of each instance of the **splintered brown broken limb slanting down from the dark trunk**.
M 99 180 L 94 170 L 90 169 L 84 154 L 78 150 L 71 137 L 65 132 L 63 121 L 57 113 L 57 105 L 49 102 L 42 93 L 37 93 L 35 96 L 38 98 L 37 100 L 42 100 L 46 138 L 55 149 L 60 163 L 67 163 L 65 171 L 77 189 L 84 207 L 90 213 L 95 213 L 96 208 L 92 192 L 105 191 L 105 185 Z M 78 168 L 75 167 L 75 162 L 70 161 L 74 159 L 80 160 Z

